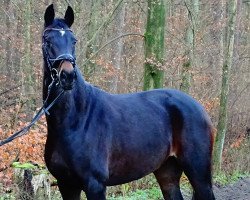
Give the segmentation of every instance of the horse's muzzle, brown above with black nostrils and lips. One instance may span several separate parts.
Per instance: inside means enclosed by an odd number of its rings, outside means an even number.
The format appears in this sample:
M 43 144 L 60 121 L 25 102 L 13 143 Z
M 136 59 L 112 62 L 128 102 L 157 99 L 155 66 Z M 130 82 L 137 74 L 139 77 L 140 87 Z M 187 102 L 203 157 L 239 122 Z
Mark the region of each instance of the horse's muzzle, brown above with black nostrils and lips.
M 59 71 L 59 82 L 64 90 L 71 90 L 76 80 L 76 71 L 73 64 L 64 60 L 61 62 Z

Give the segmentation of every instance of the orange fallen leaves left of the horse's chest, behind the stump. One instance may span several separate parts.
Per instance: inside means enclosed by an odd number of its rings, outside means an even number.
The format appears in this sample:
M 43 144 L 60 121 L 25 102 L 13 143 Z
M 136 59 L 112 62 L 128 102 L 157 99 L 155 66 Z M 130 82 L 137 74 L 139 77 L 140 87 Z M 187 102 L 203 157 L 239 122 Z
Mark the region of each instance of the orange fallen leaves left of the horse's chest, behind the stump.
M 16 130 L 20 130 L 27 124 L 19 121 Z M 7 131 L 0 127 L 0 139 L 9 137 L 16 130 Z M 44 164 L 46 131 L 45 118 L 42 118 L 26 135 L 0 147 L 0 177 L 3 184 L 11 183 L 13 171 L 10 166 L 14 161 L 32 161 L 37 164 Z

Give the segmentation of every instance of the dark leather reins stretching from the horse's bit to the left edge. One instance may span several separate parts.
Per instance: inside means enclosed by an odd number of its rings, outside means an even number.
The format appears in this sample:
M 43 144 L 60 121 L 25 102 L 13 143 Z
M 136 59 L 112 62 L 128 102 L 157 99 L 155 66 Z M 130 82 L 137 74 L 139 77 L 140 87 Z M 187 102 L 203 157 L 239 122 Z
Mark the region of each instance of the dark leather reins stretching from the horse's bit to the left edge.
M 64 93 L 64 90 L 62 90 L 57 97 L 46 107 L 49 95 L 50 95 L 50 91 L 51 88 L 53 86 L 53 84 L 57 84 L 56 83 L 56 79 L 53 79 L 53 81 L 51 82 L 51 84 L 48 87 L 48 95 L 46 100 L 43 103 L 43 106 L 40 108 L 40 110 L 38 111 L 38 113 L 35 115 L 35 117 L 31 120 L 31 122 L 29 123 L 29 125 L 25 126 L 24 128 L 22 128 L 20 131 L 14 133 L 13 135 L 11 135 L 10 137 L 0 141 L 0 146 L 3 146 L 4 144 L 7 144 L 9 142 L 11 142 L 12 140 L 21 137 L 23 135 L 25 135 L 29 129 L 42 117 L 42 115 L 44 113 L 49 115 L 49 109 L 56 103 L 56 101 L 62 96 L 62 94 Z

